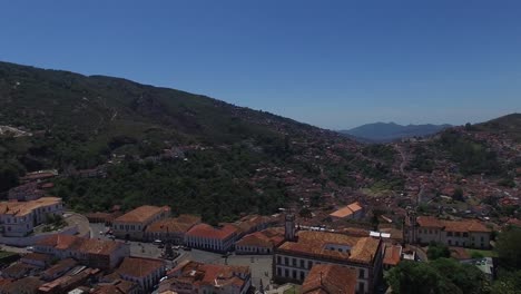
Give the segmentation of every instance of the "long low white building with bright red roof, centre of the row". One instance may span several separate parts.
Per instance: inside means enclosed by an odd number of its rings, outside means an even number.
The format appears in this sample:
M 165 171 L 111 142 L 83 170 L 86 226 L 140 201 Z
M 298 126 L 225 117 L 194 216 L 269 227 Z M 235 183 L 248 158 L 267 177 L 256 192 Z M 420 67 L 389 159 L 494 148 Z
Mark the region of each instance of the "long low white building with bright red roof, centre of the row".
M 228 224 L 220 227 L 198 224 L 186 233 L 185 244 L 205 251 L 228 252 L 234 247 L 237 233 L 237 228 Z

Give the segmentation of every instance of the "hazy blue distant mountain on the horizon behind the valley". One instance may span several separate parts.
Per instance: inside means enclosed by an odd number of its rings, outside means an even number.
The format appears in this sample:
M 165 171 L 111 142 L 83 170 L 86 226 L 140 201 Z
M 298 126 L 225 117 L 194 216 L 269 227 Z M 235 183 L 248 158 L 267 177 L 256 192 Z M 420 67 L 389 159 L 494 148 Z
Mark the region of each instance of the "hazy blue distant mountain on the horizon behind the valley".
M 340 130 L 340 133 L 360 141 L 392 141 L 402 138 L 429 136 L 449 127 L 451 125 L 402 126 L 395 122 L 374 122 L 347 130 Z

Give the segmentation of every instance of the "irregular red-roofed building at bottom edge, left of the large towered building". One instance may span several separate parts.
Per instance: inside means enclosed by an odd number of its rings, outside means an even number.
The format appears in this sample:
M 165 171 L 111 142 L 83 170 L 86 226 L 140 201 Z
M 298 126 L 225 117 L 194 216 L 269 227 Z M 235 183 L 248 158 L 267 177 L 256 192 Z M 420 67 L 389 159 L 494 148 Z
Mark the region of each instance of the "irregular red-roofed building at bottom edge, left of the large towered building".
M 250 285 L 252 274 L 247 266 L 186 261 L 168 272 L 168 278 L 159 285 L 159 292 L 245 294 Z

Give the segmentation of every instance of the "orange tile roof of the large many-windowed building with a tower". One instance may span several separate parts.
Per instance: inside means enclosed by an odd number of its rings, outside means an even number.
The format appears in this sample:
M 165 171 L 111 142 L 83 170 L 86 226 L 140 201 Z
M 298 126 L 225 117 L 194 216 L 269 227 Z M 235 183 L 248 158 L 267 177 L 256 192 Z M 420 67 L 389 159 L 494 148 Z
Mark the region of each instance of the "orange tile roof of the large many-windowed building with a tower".
M 351 253 L 327 249 L 327 244 L 347 245 L 351 247 Z M 298 233 L 296 242 L 285 242 L 277 249 L 293 254 L 370 264 L 379 254 L 380 244 L 380 239 L 372 237 L 354 237 L 328 232 L 303 231 Z

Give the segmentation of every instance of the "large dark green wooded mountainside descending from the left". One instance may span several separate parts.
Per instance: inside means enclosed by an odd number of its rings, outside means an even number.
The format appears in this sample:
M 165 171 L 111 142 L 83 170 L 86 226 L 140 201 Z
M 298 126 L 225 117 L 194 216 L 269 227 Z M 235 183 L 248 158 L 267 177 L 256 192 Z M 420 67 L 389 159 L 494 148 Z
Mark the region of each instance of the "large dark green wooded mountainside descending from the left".
M 373 182 L 400 185 L 393 154 L 383 160 L 333 131 L 118 78 L 0 62 L 0 126 L 32 134 L 0 136 L 9 179 L 0 190 L 26 171 L 107 168 L 107 178 L 56 180 L 52 193 L 78 210 L 168 204 L 217 222 L 297 202 L 327 205 L 324 195 Z M 170 148 L 186 159 L 146 159 Z M 125 159 L 110 164 L 114 156 Z

